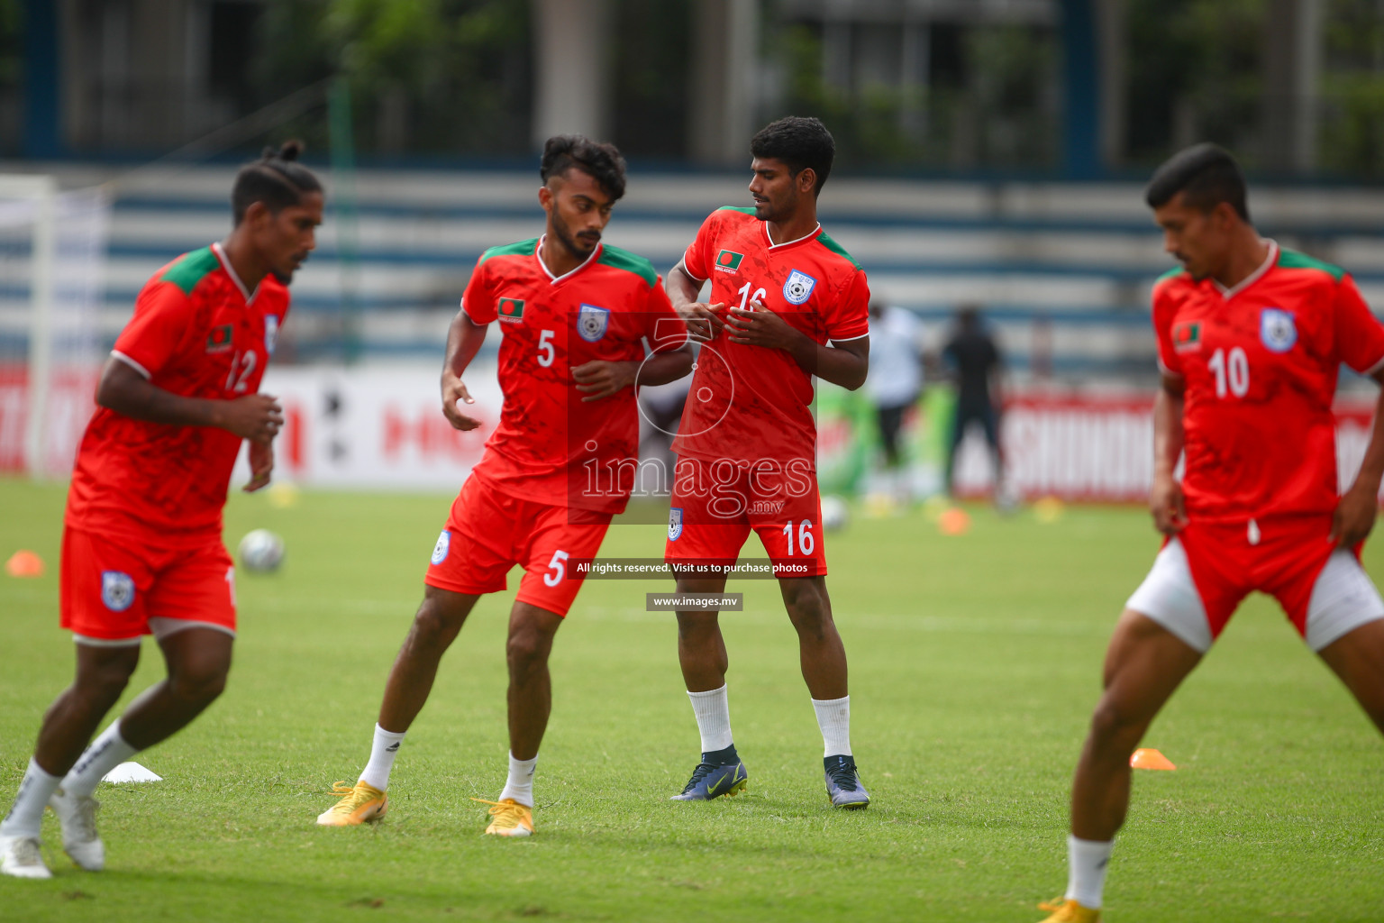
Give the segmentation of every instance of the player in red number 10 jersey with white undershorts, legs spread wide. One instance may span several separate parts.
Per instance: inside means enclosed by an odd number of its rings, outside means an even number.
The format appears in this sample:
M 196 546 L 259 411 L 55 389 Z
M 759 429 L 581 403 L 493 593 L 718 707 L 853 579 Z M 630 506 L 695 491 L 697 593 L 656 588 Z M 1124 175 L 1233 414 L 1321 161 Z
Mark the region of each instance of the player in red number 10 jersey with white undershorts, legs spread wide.
M 1106 653 L 1073 783 L 1067 893 L 1044 905 L 1046 923 L 1099 919 L 1131 754 L 1251 591 L 1279 601 L 1384 731 L 1384 602 L 1358 558 L 1384 475 L 1384 400 L 1344 495 L 1331 415 L 1342 363 L 1384 383 L 1384 327 L 1344 271 L 1255 232 L 1221 148 L 1175 155 L 1147 201 L 1182 263 L 1153 291 L 1163 387 L 1150 506 L 1168 538 Z

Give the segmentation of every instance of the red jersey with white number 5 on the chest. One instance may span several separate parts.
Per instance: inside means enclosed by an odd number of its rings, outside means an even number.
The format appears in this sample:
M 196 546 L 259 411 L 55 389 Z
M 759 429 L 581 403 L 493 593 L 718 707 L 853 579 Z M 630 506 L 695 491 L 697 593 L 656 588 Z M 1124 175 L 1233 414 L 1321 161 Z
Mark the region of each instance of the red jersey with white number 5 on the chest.
M 614 246 L 566 275 L 538 259 L 543 238 L 482 253 L 461 307 L 500 321 L 500 425 L 475 473 L 512 497 L 621 512 L 639 458 L 634 389 L 583 403 L 572 369 L 594 360 L 642 361 L 686 342 L 649 260 Z

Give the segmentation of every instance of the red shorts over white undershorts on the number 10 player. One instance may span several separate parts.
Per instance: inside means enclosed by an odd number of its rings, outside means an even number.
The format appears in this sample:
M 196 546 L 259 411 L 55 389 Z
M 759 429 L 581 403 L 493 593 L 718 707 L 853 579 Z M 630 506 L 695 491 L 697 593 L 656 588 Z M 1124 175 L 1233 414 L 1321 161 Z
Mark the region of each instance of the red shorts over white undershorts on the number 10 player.
M 1258 522 L 1190 522 L 1178 533 L 1205 606 L 1211 637 L 1258 590 L 1279 601 L 1300 634 L 1316 578 L 1331 556 L 1331 516 L 1276 516 Z

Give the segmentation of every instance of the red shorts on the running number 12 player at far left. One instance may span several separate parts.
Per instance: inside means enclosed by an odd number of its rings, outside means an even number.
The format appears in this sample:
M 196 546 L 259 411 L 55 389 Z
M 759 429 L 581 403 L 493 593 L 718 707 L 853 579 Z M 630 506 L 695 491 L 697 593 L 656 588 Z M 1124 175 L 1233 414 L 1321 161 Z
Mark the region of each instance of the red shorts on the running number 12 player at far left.
M 83 643 L 138 643 L 183 628 L 235 634 L 235 563 L 220 537 L 162 548 L 66 526 L 62 627 Z

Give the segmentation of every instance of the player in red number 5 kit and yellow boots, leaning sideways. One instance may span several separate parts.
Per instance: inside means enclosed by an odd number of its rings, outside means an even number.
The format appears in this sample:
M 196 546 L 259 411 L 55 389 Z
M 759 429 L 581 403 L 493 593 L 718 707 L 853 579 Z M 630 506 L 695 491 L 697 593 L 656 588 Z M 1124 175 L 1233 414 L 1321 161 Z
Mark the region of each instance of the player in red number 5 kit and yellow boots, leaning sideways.
M 482 255 L 447 336 L 441 411 L 457 429 L 475 429 L 462 375 L 498 320 L 500 425 L 437 538 L 424 602 L 385 685 L 370 762 L 354 786 L 338 783 L 340 800 L 317 818 L 324 826 L 385 814 L 394 756 L 441 655 L 476 599 L 505 590 L 505 574 L 522 565 L 507 646 L 509 775 L 486 803 L 486 833 L 533 833 L 533 772 L 552 706 L 548 653 L 584 576 L 573 562 L 595 556 L 628 500 L 637 386 L 674 381 L 692 365 L 686 327 L 653 266 L 601 244 L 624 195 L 620 152 L 580 136 L 548 138 L 540 177 L 547 232 Z M 588 483 L 592 472 L 598 483 Z

